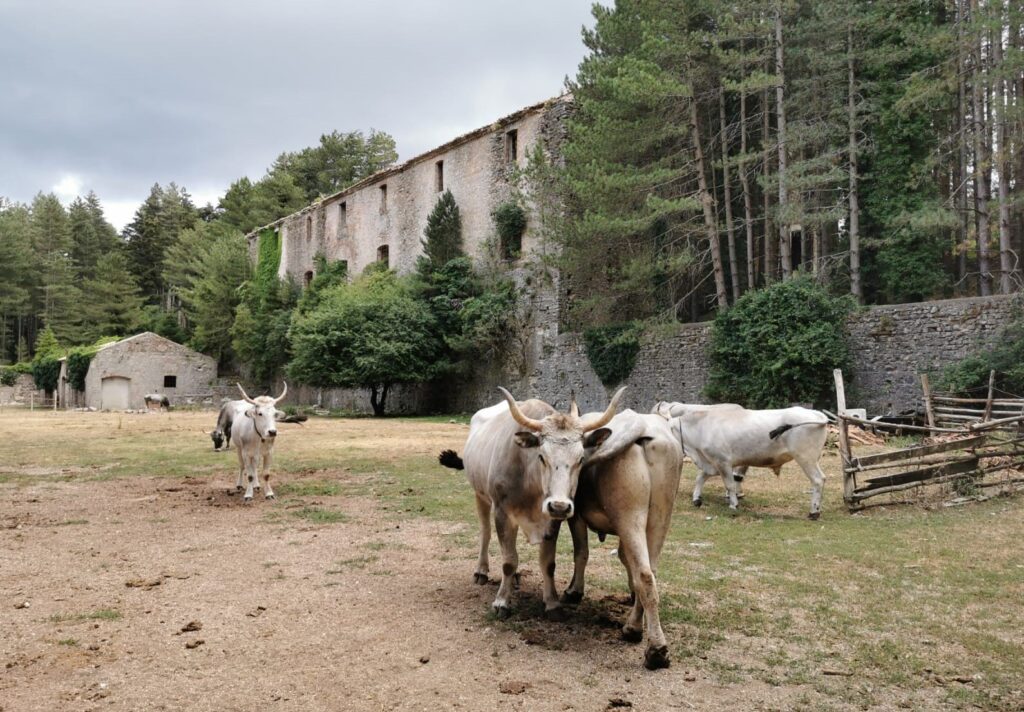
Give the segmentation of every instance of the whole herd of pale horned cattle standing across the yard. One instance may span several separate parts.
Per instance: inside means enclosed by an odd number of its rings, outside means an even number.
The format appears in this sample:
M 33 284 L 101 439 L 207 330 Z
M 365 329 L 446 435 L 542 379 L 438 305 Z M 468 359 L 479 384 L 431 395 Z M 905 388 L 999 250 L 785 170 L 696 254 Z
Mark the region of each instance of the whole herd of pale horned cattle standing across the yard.
M 276 419 L 284 417 L 278 397 L 251 399 L 239 385 L 242 401 L 225 403 L 210 433 L 214 449 L 233 439 L 239 455 L 237 490 L 252 501 L 260 489 L 273 498 L 269 467 Z M 480 522 L 479 558 L 473 579 L 488 582 L 490 522 L 502 553 L 502 576 L 492 608 L 501 617 L 512 610 L 518 583 L 516 539 L 522 529 L 530 544 L 540 545 L 545 616 L 564 620 L 566 604 L 583 599 L 588 560 L 588 531 L 601 541 L 618 537 L 618 558 L 626 568 L 633 608 L 623 626 L 627 640 L 644 633 L 644 666 L 669 666 L 669 647 L 658 618 L 655 573 L 672 522 L 684 457 L 697 466 L 693 504 L 700 506 L 709 475 L 725 481 L 729 506 L 738 504 L 739 481 L 750 467 L 779 468 L 791 460 L 811 480 L 810 518 L 821 514 L 824 474 L 818 460 L 826 437 L 827 418 L 806 408 L 755 411 L 734 404 L 697 406 L 655 404 L 650 414 L 617 411 L 625 388 L 603 413 L 581 415 L 572 401 L 561 413 L 543 401 L 516 402 L 500 389 L 504 401 L 477 411 L 470 421 L 462 456 L 443 451 L 439 462 L 465 469 L 476 497 Z M 243 481 L 245 475 L 245 481 Z M 563 521 L 572 537 L 573 572 L 559 597 L 555 588 L 555 550 Z

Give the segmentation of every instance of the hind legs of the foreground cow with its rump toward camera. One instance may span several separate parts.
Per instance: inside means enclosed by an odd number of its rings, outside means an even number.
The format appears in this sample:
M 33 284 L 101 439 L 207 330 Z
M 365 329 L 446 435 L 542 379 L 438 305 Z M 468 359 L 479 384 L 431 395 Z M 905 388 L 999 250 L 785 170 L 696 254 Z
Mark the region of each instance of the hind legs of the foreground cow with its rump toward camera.
M 630 617 L 623 627 L 623 635 L 627 639 L 635 640 L 637 634 L 642 635 L 642 631 L 646 628 L 647 650 L 644 653 L 643 664 L 648 670 L 656 670 L 669 667 L 669 645 L 657 612 L 657 581 L 654 578 L 647 548 L 646 522 L 638 523 L 641 526 L 630 528 L 618 541 L 637 597 Z

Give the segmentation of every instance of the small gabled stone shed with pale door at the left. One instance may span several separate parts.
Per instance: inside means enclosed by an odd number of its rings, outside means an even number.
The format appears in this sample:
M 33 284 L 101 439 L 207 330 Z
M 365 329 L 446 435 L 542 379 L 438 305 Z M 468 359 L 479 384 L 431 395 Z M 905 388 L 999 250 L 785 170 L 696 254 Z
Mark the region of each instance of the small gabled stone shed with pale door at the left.
M 146 393 L 163 393 L 172 406 L 212 397 L 216 360 L 153 332 L 108 344 L 85 377 L 85 405 L 103 411 L 145 408 Z

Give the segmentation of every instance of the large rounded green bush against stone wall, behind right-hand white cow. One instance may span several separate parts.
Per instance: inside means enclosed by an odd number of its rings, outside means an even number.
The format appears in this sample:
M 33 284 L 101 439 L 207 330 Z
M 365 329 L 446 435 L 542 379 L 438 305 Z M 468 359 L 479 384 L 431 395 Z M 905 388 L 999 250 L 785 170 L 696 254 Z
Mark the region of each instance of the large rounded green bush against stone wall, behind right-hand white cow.
M 748 292 L 715 320 L 707 394 L 748 408 L 834 403 L 833 369 L 849 373 L 852 308 L 807 277 Z

